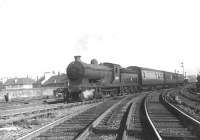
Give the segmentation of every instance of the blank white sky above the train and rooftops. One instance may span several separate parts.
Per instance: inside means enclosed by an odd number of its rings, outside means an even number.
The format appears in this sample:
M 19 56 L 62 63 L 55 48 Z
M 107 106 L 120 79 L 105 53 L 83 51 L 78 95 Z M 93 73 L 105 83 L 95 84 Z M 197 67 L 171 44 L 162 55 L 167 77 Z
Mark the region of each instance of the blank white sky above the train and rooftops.
M 0 0 L 0 77 L 89 62 L 200 71 L 199 0 Z

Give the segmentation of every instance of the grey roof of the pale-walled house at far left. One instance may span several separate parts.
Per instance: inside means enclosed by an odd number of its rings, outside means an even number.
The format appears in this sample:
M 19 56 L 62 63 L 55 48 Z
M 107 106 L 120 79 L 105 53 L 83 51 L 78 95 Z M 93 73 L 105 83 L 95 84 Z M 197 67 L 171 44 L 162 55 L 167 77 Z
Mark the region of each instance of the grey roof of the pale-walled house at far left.
M 8 85 L 31 85 L 33 84 L 35 81 L 31 78 L 11 78 L 8 79 L 4 85 L 8 86 Z

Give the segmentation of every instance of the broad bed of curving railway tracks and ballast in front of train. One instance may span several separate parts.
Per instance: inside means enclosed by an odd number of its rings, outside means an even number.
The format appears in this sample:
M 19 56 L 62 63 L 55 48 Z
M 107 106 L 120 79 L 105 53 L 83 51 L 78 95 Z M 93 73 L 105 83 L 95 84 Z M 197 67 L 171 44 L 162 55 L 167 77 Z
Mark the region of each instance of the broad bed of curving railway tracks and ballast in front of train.
M 197 96 L 181 87 L 105 100 L 24 107 L 21 115 L 17 113 L 20 108 L 8 109 L 0 115 L 0 135 L 16 140 L 197 140 Z

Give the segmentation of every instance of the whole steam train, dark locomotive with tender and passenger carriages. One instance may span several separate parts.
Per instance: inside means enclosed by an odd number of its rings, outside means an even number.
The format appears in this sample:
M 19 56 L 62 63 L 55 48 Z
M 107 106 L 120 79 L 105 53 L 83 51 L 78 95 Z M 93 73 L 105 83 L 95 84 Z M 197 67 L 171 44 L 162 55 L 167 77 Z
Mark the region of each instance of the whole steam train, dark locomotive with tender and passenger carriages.
M 184 82 L 182 74 L 137 66 L 122 68 L 113 63 L 98 64 L 95 59 L 91 64 L 86 64 L 80 57 L 75 56 L 75 61 L 67 67 L 68 97 L 72 100 L 84 98 L 85 91 L 105 96 L 167 88 L 182 85 Z

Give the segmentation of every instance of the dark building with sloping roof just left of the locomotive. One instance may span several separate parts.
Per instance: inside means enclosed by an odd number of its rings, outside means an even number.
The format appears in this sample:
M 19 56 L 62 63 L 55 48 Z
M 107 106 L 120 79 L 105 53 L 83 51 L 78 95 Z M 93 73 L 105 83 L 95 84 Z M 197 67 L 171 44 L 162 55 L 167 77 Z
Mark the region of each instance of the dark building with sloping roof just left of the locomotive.
M 47 81 L 43 83 L 43 87 L 65 87 L 68 83 L 66 74 L 58 74 L 51 76 Z

